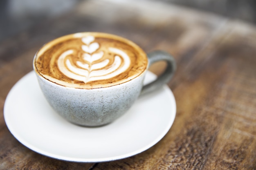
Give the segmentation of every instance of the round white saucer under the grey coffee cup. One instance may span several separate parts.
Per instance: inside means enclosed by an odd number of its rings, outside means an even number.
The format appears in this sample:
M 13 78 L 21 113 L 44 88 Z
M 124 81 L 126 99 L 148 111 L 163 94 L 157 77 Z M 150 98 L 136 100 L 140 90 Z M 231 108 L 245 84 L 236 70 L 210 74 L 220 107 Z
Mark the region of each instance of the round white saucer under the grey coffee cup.
M 147 73 L 145 82 L 152 79 L 155 75 Z M 112 161 L 143 152 L 166 135 L 175 114 L 175 98 L 164 86 L 140 97 L 111 124 L 76 126 L 48 105 L 33 72 L 13 86 L 4 104 L 5 122 L 18 141 L 42 155 L 74 162 Z

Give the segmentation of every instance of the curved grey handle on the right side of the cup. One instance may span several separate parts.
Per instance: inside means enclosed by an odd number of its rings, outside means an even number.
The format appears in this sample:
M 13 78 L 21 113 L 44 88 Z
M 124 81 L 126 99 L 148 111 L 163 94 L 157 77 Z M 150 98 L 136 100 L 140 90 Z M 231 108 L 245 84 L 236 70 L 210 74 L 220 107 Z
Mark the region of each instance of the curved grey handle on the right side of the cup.
M 176 62 L 172 55 L 164 51 L 153 51 L 148 53 L 148 66 L 158 61 L 165 61 L 167 63 L 165 71 L 157 77 L 157 79 L 149 84 L 143 86 L 140 95 L 155 91 L 161 88 L 164 84 L 167 84 L 176 70 Z

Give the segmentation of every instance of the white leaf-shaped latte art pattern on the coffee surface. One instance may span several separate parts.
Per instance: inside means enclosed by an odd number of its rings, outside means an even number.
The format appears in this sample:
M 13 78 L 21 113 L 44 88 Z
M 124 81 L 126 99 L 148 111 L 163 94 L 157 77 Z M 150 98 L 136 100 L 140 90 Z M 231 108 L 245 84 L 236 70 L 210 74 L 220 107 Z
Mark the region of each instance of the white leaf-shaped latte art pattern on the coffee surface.
M 104 52 L 97 52 L 100 46 L 99 43 L 93 42 L 93 36 L 89 35 L 81 40 L 85 43 L 81 46 L 84 51 L 82 60 L 68 58 L 74 53 L 73 50 L 65 51 L 58 58 L 58 68 L 67 77 L 87 83 L 113 78 L 129 68 L 130 57 L 124 51 L 109 47 L 108 50 L 115 54 L 114 61 L 110 63 L 110 59 L 101 60 Z

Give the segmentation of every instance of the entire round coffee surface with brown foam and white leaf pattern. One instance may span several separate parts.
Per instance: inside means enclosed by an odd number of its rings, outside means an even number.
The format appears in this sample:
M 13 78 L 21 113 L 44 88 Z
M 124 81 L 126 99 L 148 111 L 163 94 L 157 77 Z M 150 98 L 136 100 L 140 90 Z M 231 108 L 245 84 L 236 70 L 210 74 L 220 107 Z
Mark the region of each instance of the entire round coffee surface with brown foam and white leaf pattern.
M 148 66 L 133 42 L 106 33 L 76 33 L 53 40 L 34 58 L 36 73 L 62 86 L 101 88 L 129 81 Z

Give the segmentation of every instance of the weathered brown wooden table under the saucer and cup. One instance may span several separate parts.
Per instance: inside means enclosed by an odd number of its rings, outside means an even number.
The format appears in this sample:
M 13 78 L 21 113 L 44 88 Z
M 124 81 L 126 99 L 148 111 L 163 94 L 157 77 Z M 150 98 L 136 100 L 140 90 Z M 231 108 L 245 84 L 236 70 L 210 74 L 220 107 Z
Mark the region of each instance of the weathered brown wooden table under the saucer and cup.
M 175 56 L 177 71 L 168 86 L 177 115 L 152 148 L 118 161 L 74 163 L 31 151 L 9 132 L 4 100 L 32 70 L 36 51 L 83 31 L 114 33 L 146 52 L 162 49 Z M 162 67 L 151 70 L 158 74 Z M 256 169 L 256 27 L 161 2 L 87 0 L 0 42 L 0 169 Z

